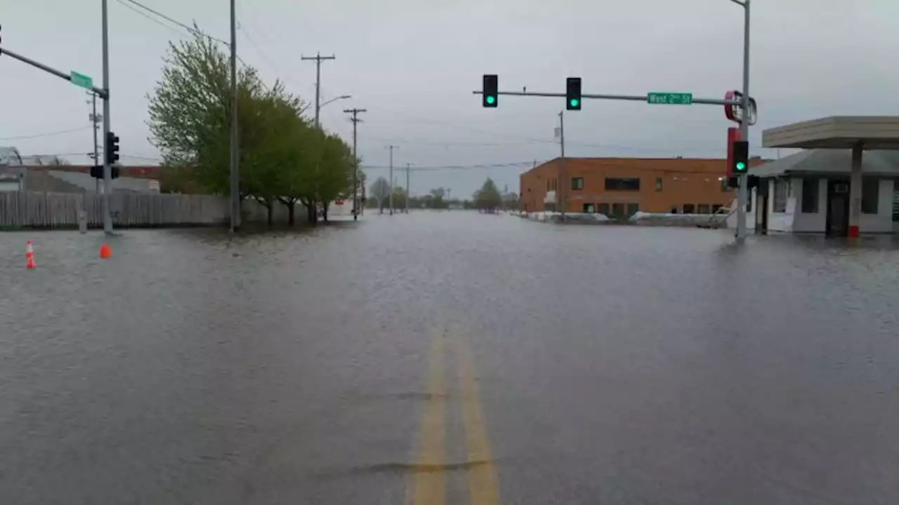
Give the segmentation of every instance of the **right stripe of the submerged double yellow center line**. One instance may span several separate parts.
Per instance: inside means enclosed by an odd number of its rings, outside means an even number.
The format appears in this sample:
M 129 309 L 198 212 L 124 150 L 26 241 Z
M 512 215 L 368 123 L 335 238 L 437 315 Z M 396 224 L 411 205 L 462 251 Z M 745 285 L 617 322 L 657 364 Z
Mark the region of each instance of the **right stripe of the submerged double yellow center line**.
M 499 479 L 496 476 L 484 412 L 481 409 L 481 394 L 475 378 L 474 358 L 467 339 L 458 337 L 456 342 L 458 376 L 462 386 L 462 420 L 465 423 L 465 444 L 467 460 L 471 465 L 467 470 L 468 493 L 471 505 L 497 505 Z

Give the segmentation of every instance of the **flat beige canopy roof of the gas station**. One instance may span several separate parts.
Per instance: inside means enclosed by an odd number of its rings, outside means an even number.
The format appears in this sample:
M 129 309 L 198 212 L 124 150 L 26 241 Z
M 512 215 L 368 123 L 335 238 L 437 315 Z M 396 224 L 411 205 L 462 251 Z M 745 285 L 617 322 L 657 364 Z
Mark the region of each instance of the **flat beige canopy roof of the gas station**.
M 899 116 L 832 116 L 769 128 L 761 132 L 761 146 L 899 149 Z

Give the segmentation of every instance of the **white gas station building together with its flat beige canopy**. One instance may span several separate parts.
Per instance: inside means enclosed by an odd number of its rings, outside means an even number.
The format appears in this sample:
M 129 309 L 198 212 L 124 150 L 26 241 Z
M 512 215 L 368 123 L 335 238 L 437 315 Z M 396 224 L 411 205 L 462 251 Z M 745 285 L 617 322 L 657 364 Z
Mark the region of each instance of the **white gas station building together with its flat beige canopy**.
M 799 148 L 750 170 L 756 230 L 859 234 L 899 232 L 899 116 L 832 116 L 761 133 L 764 147 Z

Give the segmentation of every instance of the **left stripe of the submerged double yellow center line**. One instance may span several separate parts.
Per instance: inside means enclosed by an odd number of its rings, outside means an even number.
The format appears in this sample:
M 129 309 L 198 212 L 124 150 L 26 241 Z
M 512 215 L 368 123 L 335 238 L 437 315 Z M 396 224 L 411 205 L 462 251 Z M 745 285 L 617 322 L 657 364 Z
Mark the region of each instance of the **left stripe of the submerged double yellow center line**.
M 414 505 L 442 505 L 446 500 L 444 472 L 444 425 L 446 388 L 444 386 L 443 335 L 435 328 L 430 356 L 430 399 L 422 415 L 421 439 L 415 460 L 417 471 L 412 483 L 411 501 Z M 438 469 L 434 471 L 434 469 Z

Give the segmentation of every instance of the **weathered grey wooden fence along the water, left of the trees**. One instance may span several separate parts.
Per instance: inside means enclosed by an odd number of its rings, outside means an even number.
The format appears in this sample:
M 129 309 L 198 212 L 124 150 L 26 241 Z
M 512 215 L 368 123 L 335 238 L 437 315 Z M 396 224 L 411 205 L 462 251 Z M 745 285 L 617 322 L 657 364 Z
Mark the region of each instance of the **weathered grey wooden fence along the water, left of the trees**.
M 0 192 L 0 229 L 76 228 L 84 209 L 87 226 L 102 227 L 102 195 L 86 193 Z M 217 226 L 230 218 L 225 197 L 112 193 L 112 223 L 117 227 Z

